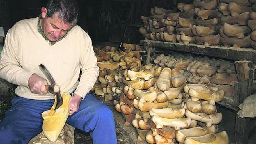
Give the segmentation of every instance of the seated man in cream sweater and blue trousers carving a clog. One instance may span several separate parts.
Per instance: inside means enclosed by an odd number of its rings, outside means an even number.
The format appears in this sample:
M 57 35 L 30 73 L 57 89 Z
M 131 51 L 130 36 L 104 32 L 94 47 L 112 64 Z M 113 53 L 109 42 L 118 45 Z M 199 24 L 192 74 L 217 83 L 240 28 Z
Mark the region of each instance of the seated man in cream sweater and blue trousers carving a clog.
M 0 77 L 18 87 L 0 123 L 0 143 L 25 144 L 42 131 L 41 113 L 51 108 L 54 95 L 45 89 L 49 81 L 38 67 L 41 63 L 61 91 L 72 94 L 67 123 L 90 131 L 94 144 L 117 143 L 112 111 L 88 94 L 99 68 L 90 37 L 75 25 L 77 16 L 76 1 L 49 0 L 39 17 L 21 20 L 8 31 Z

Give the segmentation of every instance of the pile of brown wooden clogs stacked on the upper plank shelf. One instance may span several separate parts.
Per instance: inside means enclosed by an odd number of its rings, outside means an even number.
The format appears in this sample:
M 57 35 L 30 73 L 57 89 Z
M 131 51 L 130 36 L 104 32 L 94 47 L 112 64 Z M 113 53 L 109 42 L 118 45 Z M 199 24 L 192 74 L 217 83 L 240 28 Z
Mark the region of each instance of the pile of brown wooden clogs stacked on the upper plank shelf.
M 145 39 L 256 49 L 255 0 L 194 0 L 179 3 L 180 12 L 152 8 L 141 16 Z M 161 11 L 159 13 L 158 11 Z M 157 13 L 156 13 L 157 11 Z

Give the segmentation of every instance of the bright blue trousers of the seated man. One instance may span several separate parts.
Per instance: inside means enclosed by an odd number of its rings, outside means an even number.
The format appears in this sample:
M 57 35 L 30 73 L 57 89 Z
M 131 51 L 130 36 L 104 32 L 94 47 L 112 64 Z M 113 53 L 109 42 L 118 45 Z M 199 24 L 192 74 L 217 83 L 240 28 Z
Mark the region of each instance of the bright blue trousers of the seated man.
M 42 131 L 42 112 L 53 105 L 54 100 L 32 100 L 14 97 L 13 106 L 0 122 L 1 144 L 26 144 Z M 87 94 L 79 111 L 69 116 L 67 123 L 90 132 L 94 144 L 116 144 L 115 122 L 112 111 L 93 95 Z

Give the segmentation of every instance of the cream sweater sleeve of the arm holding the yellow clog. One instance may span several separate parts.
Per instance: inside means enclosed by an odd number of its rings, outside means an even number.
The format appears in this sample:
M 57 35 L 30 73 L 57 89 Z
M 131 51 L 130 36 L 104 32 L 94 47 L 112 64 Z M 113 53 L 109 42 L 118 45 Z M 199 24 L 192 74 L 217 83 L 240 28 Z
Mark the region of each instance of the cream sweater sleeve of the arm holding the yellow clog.
M 84 33 L 83 47 L 80 55 L 80 69 L 82 74 L 80 77 L 79 84 L 74 93 L 81 96 L 82 99 L 89 93 L 95 84 L 99 75 L 99 67 L 97 66 L 97 58 L 93 51 L 92 41 L 87 33 Z

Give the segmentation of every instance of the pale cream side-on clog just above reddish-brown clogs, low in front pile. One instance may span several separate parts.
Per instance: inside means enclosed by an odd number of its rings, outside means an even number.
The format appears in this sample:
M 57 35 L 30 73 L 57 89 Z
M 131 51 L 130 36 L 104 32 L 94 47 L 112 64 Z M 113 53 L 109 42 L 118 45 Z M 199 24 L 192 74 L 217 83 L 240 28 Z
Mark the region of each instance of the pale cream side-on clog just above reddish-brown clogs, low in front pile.
M 156 128 L 162 128 L 163 126 L 173 127 L 175 130 L 186 129 L 191 123 L 191 118 L 161 118 L 157 115 L 152 117 L 152 121 L 156 124 Z

